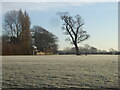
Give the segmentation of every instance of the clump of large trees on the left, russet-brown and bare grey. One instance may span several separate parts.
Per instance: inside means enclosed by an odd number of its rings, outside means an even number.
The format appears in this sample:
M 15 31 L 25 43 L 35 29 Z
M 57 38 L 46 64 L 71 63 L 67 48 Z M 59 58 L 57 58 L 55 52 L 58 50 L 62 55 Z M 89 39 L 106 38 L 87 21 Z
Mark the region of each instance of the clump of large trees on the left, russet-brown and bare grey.
M 58 38 L 40 26 L 30 28 L 30 17 L 26 11 L 12 10 L 4 15 L 2 54 L 30 55 L 35 45 L 38 51 L 57 51 Z

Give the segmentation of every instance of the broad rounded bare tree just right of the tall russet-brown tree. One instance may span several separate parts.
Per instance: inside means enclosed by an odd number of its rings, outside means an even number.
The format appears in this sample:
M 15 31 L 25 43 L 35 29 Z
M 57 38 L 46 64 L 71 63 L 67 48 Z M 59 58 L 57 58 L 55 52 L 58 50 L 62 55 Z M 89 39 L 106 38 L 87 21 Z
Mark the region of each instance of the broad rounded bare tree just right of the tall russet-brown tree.
M 40 26 L 34 26 L 32 29 L 33 44 L 38 51 L 45 53 L 57 53 L 58 38 Z

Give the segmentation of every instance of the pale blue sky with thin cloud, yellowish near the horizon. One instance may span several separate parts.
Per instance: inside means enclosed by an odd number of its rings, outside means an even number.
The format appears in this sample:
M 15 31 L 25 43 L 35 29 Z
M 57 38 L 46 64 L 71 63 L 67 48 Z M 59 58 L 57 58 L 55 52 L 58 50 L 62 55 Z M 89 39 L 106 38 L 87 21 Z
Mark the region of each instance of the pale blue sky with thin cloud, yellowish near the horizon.
M 66 36 L 61 27 L 63 22 L 57 12 L 69 12 L 72 16 L 79 14 L 83 17 L 83 29 L 90 38 L 79 45 L 90 44 L 99 49 L 108 50 L 118 47 L 118 3 L 117 2 L 3 2 L 2 12 L 10 10 L 26 10 L 31 19 L 31 27 L 42 26 L 59 38 L 59 49 L 72 47 L 65 42 Z M 1 17 L 0 17 L 1 19 Z M 0 27 L 1 28 L 1 27 Z

